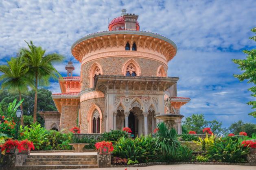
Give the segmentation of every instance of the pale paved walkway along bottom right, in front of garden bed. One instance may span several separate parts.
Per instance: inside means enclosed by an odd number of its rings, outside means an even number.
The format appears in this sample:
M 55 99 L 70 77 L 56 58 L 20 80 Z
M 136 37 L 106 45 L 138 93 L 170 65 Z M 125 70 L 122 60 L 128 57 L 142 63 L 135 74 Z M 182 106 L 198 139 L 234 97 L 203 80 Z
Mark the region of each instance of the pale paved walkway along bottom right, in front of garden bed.
M 77 170 L 77 169 L 76 169 Z M 138 168 L 93 168 L 80 170 L 256 170 L 256 166 L 238 165 L 158 165 Z

